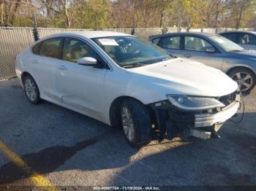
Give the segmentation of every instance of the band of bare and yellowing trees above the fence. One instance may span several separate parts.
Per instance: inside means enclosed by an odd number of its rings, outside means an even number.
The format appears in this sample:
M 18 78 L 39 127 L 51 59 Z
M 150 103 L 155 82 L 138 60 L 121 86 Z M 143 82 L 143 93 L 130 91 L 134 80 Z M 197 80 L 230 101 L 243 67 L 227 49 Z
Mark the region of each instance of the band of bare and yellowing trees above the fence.
M 0 0 L 0 26 L 53 28 L 249 27 L 256 0 Z M 165 21 L 165 22 L 164 22 Z

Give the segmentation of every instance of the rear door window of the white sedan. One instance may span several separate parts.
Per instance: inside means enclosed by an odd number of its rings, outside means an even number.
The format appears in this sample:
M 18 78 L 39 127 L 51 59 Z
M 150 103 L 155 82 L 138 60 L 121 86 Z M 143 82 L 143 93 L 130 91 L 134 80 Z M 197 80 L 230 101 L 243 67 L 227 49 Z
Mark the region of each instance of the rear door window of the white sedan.
M 44 55 L 50 58 L 59 58 L 59 45 L 61 38 L 48 39 L 42 42 L 39 50 L 39 55 Z

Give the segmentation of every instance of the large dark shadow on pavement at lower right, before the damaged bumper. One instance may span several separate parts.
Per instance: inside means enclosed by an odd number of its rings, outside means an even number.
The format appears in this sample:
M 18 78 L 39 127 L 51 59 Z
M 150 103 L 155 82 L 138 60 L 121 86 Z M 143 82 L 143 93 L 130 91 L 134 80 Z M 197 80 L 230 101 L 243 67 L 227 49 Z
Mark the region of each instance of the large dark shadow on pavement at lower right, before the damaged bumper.
M 255 112 L 244 114 L 251 128 L 255 117 Z M 111 185 L 255 186 L 256 130 L 245 125 L 227 122 L 219 132 L 221 139 L 190 139 L 187 144 L 146 155 L 118 172 L 129 182 L 116 176 Z

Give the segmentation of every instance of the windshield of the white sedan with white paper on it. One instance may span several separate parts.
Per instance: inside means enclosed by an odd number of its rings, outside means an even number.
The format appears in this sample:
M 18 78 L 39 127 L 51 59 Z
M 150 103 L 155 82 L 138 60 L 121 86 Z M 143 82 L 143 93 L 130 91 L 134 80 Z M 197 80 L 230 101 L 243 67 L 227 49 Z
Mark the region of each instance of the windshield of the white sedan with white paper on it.
M 134 36 L 111 36 L 93 40 L 124 68 L 144 66 L 172 58 L 151 42 Z

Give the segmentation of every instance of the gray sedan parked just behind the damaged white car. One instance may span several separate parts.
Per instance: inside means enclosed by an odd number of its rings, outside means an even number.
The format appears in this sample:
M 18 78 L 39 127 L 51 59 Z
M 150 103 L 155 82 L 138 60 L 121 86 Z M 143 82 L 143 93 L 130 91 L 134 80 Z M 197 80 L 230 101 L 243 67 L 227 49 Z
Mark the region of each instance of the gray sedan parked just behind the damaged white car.
M 217 34 L 173 33 L 149 36 L 149 41 L 172 55 L 221 69 L 249 93 L 255 87 L 256 51 L 245 50 Z

